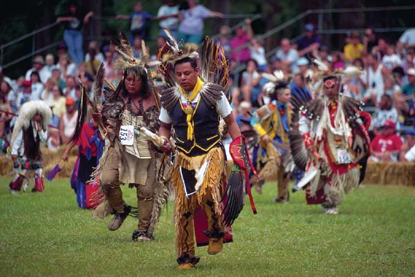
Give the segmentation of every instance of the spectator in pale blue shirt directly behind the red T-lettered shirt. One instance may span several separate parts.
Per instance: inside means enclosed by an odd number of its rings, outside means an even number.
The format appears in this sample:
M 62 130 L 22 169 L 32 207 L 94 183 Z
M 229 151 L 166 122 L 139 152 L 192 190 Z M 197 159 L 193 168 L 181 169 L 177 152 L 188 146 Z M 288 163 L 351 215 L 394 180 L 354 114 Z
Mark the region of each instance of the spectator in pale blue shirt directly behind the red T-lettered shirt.
M 382 95 L 371 120 L 371 129 L 373 128 L 375 134 L 385 125 L 387 120 L 398 122 L 398 111 L 392 104 L 392 98 L 389 95 Z M 399 125 L 396 129 L 399 130 Z

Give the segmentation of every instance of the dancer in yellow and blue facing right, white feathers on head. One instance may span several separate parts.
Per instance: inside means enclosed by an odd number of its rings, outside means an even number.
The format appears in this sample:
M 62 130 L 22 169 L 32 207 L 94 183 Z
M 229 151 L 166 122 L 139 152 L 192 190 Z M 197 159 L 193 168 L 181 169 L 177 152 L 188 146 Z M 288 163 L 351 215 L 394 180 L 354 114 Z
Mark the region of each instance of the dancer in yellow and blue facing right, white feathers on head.
M 264 90 L 271 101 L 258 108 L 250 122 L 260 137 L 252 153 L 259 178 L 252 178 L 251 183 L 261 194 L 266 178 L 277 175 L 278 196 L 275 202 L 288 203 L 289 175 L 286 168 L 291 160 L 288 144 L 291 125 L 291 106 L 288 104 L 291 91 L 288 84 L 282 82 L 282 73 L 266 73 L 263 77 L 270 81 L 264 85 Z

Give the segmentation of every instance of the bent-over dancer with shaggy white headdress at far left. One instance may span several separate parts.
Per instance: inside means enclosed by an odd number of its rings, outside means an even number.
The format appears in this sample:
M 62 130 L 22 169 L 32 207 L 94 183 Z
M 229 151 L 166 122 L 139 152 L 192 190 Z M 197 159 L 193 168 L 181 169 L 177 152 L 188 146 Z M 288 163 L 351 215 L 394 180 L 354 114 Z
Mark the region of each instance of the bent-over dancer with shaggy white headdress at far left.
M 52 111 L 41 100 L 29 101 L 21 106 L 10 143 L 16 170 L 15 178 L 9 184 L 10 193 L 17 194 L 22 186 L 23 191 L 26 191 L 29 185 L 26 176 L 28 170 L 35 171 L 35 187 L 32 191 L 44 191 L 40 142 L 46 142 L 47 126 L 51 118 Z M 23 184 L 25 179 L 26 184 Z

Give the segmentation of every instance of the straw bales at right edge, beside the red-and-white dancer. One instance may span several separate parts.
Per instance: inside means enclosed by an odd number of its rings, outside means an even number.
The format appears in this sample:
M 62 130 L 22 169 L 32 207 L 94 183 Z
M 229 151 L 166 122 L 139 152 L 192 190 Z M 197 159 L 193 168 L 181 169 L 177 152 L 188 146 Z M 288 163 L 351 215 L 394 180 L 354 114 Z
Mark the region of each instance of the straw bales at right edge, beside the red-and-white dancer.
M 363 184 L 415 187 L 415 162 L 368 162 Z

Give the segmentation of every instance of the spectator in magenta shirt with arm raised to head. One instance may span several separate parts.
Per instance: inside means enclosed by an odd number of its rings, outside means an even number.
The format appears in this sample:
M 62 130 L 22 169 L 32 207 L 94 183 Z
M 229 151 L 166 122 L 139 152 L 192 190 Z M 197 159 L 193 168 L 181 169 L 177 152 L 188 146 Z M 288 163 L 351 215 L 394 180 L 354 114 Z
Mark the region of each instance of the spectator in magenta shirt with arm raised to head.
M 232 49 L 231 58 L 237 63 L 246 63 L 250 59 L 249 47 L 241 47 L 244 44 L 248 44 L 254 37 L 254 32 L 251 27 L 251 20 L 246 18 L 246 26 L 239 26 L 235 31 L 235 36 L 230 40 L 230 48 Z

